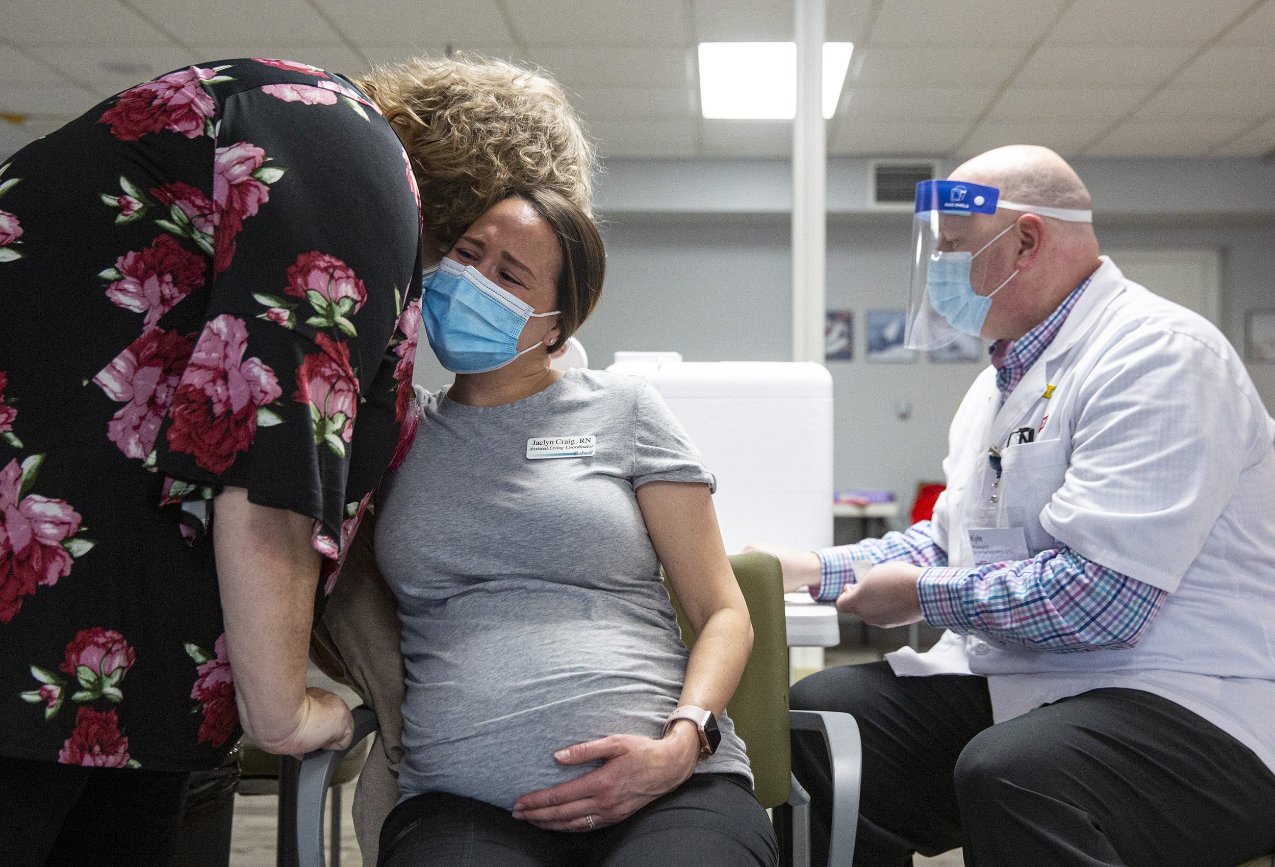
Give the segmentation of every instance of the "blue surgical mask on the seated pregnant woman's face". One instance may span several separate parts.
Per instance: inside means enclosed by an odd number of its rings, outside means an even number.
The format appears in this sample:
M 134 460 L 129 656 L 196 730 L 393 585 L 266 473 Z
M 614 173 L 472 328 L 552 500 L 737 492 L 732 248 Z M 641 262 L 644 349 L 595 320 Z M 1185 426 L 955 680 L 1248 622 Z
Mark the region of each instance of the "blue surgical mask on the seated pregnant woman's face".
M 444 259 L 436 272 L 425 275 L 425 333 L 439 362 L 453 374 L 486 374 L 504 367 L 539 346 L 518 351 L 518 338 L 529 319 L 560 312 L 532 312 L 529 303 L 454 259 Z

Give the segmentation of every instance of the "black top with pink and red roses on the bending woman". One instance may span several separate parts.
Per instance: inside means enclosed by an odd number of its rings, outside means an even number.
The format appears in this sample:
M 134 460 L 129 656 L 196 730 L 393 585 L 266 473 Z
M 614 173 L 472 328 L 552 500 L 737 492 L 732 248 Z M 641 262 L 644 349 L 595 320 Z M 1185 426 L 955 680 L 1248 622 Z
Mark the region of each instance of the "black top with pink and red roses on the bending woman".
M 314 519 L 316 604 L 409 431 L 419 199 L 349 80 L 201 64 L 0 167 L 0 756 L 238 737 L 223 486 Z

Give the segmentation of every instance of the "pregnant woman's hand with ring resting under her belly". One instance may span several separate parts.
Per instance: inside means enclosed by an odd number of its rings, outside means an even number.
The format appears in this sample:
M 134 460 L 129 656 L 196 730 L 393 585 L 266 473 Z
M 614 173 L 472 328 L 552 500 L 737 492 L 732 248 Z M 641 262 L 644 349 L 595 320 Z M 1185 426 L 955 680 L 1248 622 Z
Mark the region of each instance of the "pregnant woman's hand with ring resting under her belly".
M 524 794 L 514 805 L 514 819 L 547 831 L 592 831 L 615 825 L 685 783 L 699 755 L 699 733 L 688 722 L 673 725 L 659 741 L 612 734 L 558 750 L 553 757 L 560 765 L 598 760 L 603 765 L 569 783 Z

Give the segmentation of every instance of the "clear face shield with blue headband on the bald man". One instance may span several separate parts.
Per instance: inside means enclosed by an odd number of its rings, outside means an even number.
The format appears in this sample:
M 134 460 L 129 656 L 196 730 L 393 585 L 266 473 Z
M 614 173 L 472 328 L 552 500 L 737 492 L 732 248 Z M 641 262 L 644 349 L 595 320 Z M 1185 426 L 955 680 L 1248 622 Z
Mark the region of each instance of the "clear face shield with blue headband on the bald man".
M 968 181 L 922 181 L 912 221 L 912 278 L 908 284 L 909 349 L 941 349 L 963 334 L 979 337 L 992 309 L 992 296 L 1017 275 L 991 282 L 991 258 L 983 254 L 1014 228 L 1000 232 L 986 227 L 975 214 L 994 214 L 997 208 L 1052 217 L 1067 222 L 1091 222 L 1089 210 L 1047 208 L 1005 201 L 994 186 Z

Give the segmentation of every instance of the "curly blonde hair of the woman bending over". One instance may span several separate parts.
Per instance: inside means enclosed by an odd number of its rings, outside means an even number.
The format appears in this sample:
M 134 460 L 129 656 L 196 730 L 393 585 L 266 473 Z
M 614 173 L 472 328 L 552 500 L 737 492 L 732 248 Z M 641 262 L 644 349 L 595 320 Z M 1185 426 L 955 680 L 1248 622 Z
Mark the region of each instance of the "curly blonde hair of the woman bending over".
M 375 66 L 354 82 L 403 142 L 440 252 L 520 191 L 552 190 L 592 213 L 593 144 L 547 75 L 456 54 Z

